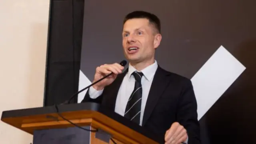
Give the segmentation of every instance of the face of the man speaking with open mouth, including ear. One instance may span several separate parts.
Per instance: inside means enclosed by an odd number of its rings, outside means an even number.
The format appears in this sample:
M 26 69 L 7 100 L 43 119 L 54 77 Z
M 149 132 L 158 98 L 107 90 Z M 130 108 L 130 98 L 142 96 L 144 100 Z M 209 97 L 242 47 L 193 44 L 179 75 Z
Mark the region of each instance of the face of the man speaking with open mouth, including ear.
M 122 32 L 124 55 L 134 63 L 154 60 L 161 36 L 146 18 L 127 20 Z

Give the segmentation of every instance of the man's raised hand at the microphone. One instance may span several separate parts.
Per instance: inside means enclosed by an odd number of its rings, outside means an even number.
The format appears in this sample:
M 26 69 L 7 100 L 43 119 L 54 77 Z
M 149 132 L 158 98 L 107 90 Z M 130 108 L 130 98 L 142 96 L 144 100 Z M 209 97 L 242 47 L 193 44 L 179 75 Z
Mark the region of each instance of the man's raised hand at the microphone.
M 109 84 L 111 84 L 116 79 L 116 76 L 122 73 L 123 69 L 124 69 L 124 66 L 121 66 L 118 63 L 104 64 L 97 67 L 93 82 L 96 82 L 97 80 L 103 78 L 104 76 L 110 74 L 111 72 L 113 72 L 113 74 L 108 76 L 107 78 L 104 78 L 102 81 L 98 82 L 97 84 L 95 84 L 93 88 L 95 88 L 96 90 L 102 90 L 105 86 L 108 86 Z

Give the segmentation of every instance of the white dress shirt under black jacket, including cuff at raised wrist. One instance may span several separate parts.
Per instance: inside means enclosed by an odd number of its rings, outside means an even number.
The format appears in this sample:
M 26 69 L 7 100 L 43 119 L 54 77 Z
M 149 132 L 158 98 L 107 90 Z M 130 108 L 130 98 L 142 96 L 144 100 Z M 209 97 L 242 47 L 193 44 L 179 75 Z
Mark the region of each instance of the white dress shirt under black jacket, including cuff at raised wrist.
M 155 60 L 154 64 L 151 64 L 150 66 L 144 68 L 143 70 L 138 71 L 143 73 L 143 76 L 141 79 L 142 101 L 141 101 L 141 113 L 140 113 L 140 126 L 142 125 L 142 118 L 144 115 L 146 101 L 148 99 L 148 93 L 152 84 L 153 77 L 156 73 L 157 67 L 158 67 L 158 64 Z M 132 91 L 134 90 L 135 78 L 132 75 L 134 71 L 137 71 L 137 70 L 129 64 L 128 72 L 124 76 L 124 79 L 118 91 L 118 95 L 116 98 L 115 112 L 120 114 L 121 116 L 124 116 L 126 104 L 128 102 L 128 99 L 130 98 L 130 95 L 132 94 Z M 93 87 L 89 88 L 90 98 L 97 98 L 98 96 L 100 96 L 100 94 L 102 94 L 102 92 L 103 90 L 98 91 L 98 90 L 95 90 Z

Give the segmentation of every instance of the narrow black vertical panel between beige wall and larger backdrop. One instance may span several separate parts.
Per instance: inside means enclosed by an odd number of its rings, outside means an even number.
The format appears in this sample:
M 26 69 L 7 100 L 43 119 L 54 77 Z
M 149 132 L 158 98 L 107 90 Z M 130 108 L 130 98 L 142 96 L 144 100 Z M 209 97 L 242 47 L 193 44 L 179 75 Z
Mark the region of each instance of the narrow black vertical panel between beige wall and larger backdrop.
M 51 1 L 44 106 L 78 90 L 83 14 L 84 0 Z

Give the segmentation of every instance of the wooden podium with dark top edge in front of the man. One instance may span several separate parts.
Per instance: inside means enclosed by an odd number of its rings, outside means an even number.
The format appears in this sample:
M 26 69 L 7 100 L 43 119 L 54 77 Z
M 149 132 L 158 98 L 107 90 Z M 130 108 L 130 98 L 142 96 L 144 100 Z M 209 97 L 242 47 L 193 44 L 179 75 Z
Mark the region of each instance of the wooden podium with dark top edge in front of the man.
M 2 112 L 1 120 L 32 134 L 33 144 L 113 144 L 112 140 L 117 144 L 162 142 L 145 128 L 91 102 L 8 110 Z

